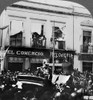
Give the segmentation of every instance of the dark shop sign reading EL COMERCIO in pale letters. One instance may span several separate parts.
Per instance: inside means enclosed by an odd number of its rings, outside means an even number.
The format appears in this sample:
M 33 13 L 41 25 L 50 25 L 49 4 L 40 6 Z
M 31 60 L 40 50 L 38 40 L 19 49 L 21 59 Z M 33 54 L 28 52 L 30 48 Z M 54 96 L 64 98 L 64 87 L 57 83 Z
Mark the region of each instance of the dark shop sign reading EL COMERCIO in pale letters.
M 25 56 L 25 57 L 49 57 L 50 52 L 48 50 L 42 49 L 9 49 L 7 51 L 7 55 L 9 56 Z

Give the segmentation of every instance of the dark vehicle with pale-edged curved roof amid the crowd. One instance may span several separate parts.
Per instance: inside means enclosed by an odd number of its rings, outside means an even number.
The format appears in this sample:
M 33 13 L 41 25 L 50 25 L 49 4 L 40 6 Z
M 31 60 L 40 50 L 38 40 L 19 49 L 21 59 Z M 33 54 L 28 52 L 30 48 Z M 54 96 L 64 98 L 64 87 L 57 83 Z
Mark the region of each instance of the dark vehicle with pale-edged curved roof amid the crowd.
M 52 96 L 55 91 L 55 86 L 50 80 L 31 76 L 31 75 L 19 75 L 17 85 L 19 87 L 19 93 L 17 93 L 17 100 L 52 100 Z

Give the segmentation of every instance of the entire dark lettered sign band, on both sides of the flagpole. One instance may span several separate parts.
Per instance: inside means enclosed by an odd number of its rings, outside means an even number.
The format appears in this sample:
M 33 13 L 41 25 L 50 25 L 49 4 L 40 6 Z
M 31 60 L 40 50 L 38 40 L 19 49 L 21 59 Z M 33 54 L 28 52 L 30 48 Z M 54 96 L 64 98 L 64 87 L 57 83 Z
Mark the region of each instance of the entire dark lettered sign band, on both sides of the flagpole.
M 9 50 L 7 51 L 7 56 L 19 56 L 30 58 L 49 58 L 54 56 L 55 59 L 73 59 L 74 51 L 55 50 L 53 54 L 53 51 L 49 49 L 12 47 L 9 48 Z

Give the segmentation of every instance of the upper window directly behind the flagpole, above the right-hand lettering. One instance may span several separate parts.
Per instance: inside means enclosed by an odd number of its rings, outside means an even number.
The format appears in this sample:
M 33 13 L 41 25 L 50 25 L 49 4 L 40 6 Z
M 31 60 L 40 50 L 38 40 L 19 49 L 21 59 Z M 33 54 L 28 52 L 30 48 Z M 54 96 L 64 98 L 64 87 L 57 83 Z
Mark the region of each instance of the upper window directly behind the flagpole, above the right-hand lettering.
M 52 34 L 50 42 L 53 44 L 53 36 L 54 36 L 55 49 L 65 49 L 65 40 L 62 28 L 63 28 L 62 24 L 55 23 L 55 26 L 53 26 L 54 35 Z

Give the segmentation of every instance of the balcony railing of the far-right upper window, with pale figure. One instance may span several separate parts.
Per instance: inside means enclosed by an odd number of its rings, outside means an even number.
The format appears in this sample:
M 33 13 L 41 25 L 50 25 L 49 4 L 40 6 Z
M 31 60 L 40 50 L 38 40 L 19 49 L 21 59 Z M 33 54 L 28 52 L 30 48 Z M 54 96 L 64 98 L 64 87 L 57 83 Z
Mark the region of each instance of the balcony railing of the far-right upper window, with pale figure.
M 93 45 L 81 45 L 81 53 L 93 53 Z

